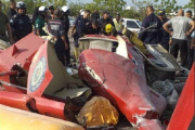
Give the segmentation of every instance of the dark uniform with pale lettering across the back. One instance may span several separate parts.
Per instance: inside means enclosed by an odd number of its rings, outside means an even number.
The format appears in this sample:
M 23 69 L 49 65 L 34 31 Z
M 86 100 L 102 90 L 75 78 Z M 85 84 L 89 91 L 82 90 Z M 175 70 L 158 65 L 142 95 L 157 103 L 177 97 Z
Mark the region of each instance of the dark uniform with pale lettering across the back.
M 63 22 L 61 20 L 54 18 L 52 21 L 49 22 L 49 29 L 50 32 L 56 37 L 56 42 L 55 42 L 55 52 L 57 54 L 58 60 L 62 62 L 63 65 L 69 64 L 67 62 L 69 62 L 70 57 L 66 56 L 66 63 L 65 63 L 65 44 L 64 41 L 62 40 L 62 36 L 65 36 L 66 40 L 67 40 L 67 34 L 65 31 L 65 26 L 63 24 Z M 68 43 L 68 40 L 66 41 Z M 68 44 L 69 47 L 69 44 Z

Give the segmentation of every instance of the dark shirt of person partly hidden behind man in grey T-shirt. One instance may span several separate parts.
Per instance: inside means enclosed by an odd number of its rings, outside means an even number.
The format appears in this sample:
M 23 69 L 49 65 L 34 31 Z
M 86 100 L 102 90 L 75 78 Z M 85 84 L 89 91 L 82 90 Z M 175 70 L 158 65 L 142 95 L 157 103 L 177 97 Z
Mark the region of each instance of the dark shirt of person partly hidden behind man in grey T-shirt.
M 165 23 L 167 23 L 169 20 L 168 18 L 165 18 L 162 22 L 161 22 L 161 25 L 164 26 Z M 160 43 L 161 44 L 167 44 L 169 43 L 169 39 L 170 39 L 170 35 L 169 32 L 167 32 L 164 28 L 161 28 L 161 41 Z

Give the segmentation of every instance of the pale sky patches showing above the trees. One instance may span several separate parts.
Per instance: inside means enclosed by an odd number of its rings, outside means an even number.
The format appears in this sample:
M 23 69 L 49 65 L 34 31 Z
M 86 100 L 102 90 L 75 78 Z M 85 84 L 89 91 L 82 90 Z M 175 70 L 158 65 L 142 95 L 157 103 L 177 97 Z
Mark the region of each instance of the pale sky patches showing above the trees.
M 92 2 L 93 0 L 67 0 L 69 2 L 77 2 L 77 1 L 80 1 L 80 2 Z M 126 6 L 129 6 L 129 5 L 134 5 L 132 3 L 132 0 L 125 0 L 127 2 L 127 5 Z M 190 2 L 190 0 L 177 0 L 178 1 L 178 5 L 185 5 Z

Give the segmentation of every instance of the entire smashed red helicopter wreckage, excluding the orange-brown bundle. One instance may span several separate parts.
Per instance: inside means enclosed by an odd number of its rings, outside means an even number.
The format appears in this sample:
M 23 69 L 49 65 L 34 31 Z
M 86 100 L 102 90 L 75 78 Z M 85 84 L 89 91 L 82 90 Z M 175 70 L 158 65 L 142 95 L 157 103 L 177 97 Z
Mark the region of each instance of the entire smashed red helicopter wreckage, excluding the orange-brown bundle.
M 80 123 L 76 115 L 98 95 L 138 130 L 164 130 L 169 121 L 167 130 L 186 130 L 194 115 L 194 67 L 187 79 L 187 70 L 160 46 L 146 44 L 144 54 L 133 42 L 140 41 L 80 38 L 78 69 L 65 68 L 50 40 L 34 34 L 8 49 L 1 42 L 0 104 Z

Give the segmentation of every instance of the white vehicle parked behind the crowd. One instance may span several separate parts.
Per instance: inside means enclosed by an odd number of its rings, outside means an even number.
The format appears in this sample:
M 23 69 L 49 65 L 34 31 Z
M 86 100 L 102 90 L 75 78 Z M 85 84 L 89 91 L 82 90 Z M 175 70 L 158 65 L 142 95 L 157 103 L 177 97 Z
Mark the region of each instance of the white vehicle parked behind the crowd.
M 140 31 L 142 22 L 133 18 L 122 18 L 122 20 L 123 20 L 123 27 L 127 27 L 131 31 L 135 31 L 135 32 Z

